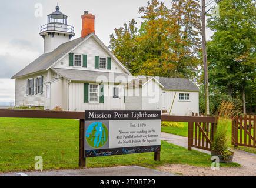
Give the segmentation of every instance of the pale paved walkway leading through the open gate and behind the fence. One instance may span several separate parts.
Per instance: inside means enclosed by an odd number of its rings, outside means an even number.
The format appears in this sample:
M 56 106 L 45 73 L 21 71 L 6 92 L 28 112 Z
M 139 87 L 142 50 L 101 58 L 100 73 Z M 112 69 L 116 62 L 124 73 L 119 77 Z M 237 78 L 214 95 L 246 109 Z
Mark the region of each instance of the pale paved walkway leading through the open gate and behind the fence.
M 162 133 L 162 140 L 188 148 L 188 138 L 184 136 Z M 192 150 L 208 153 L 206 150 L 201 150 L 192 147 Z M 233 150 L 233 161 L 241 164 L 242 167 L 220 168 L 220 170 L 212 170 L 210 167 L 194 167 L 181 164 L 173 164 L 159 167 L 159 170 L 165 172 L 181 173 L 185 176 L 256 176 L 256 155 L 254 153 L 244 152 L 242 150 Z

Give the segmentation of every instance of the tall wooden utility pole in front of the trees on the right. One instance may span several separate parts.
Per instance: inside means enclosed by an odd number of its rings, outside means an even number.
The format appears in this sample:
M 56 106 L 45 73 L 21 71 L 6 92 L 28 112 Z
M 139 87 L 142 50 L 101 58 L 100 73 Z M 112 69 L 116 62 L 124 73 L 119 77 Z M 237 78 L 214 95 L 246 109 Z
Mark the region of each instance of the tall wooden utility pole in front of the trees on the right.
M 202 56 L 204 62 L 204 95 L 205 95 L 205 115 L 210 114 L 209 110 L 209 82 L 208 82 L 208 65 L 206 51 L 206 33 L 205 33 L 205 0 L 202 0 Z

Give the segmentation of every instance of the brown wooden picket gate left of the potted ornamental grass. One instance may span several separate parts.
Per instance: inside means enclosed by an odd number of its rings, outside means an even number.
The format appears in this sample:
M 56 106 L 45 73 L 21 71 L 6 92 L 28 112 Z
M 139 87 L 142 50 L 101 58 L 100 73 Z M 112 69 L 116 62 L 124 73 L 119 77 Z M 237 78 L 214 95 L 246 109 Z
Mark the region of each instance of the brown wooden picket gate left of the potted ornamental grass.
M 194 116 L 194 113 L 192 115 Z M 202 121 L 202 116 L 198 116 L 197 113 L 195 116 L 198 117 L 196 122 L 188 122 L 188 150 L 196 147 L 211 151 L 217 119 L 209 117 L 207 121 Z

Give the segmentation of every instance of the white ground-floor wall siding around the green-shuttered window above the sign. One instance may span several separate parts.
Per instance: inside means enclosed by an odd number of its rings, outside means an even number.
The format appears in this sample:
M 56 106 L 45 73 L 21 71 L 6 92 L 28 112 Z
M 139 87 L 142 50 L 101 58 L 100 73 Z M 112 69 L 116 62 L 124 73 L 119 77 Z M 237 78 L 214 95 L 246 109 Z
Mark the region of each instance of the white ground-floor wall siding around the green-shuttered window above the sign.
M 113 87 L 114 85 L 104 85 L 104 103 L 84 103 L 84 83 L 69 83 L 69 111 L 112 110 L 111 90 Z M 122 90 L 122 92 L 124 92 L 124 90 Z M 120 100 L 120 110 L 125 110 L 124 94 L 122 94 Z

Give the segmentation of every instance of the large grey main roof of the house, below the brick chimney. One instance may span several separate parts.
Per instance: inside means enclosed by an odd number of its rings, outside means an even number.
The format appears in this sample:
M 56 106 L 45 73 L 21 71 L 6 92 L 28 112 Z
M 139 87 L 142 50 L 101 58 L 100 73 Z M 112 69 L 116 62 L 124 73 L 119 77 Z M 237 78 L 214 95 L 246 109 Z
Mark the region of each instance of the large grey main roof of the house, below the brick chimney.
M 124 67 L 124 65 L 122 65 L 122 63 L 118 61 L 118 59 L 114 56 L 114 54 L 112 54 L 112 52 L 109 51 L 107 46 L 105 46 L 104 43 L 101 42 L 100 39 L 94 33 L 91 33 L 87 35 L 85 38 L 80 37 L 72 41 L 63 43 L 58 48 L 54 49 L 54 51 L 49 53 L 44 53 L 43 55 L 39 56 L 39 58 L 35 59 L 35 61 L 27 65 L 24 69 L 16 73 L 16 75 L 12 76 L 12 79 L 19 78 L 26 75 L 31 75 L 32 73 L 42 72 L 52 68 L 52 66 L 54 66 L 56 62 L 58 62 L 65 55 L 68 55 L 68 53 L 70 53 L 74 48 L 76 48 L 82 42 L 87 41 L 87 39 L 91 38 L 91 36 L 94 37 L 95 41 L 97 41 L 99 45 L 101 45 L 102 48 L 104 48 L 109 53 L 109 55 L 111 55 L 111 57 L 118 62 L 118 64 L 121 66 L 122 69 L 125 70 L 125 72 L 131 75 L 129 70 L 127 70 Z

